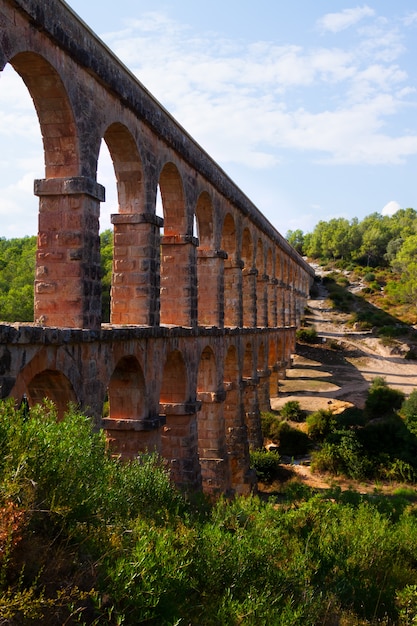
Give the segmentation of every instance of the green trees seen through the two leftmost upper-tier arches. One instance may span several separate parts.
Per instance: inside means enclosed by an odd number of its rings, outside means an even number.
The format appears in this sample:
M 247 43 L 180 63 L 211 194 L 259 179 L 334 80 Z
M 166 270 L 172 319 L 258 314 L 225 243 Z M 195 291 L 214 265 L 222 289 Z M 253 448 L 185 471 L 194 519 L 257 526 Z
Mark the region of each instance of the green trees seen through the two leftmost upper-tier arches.
M 110 319 L 110 283 L 113 232 L 100 235 L 102 270 L 102 315 Z M 0 320 L 32 322 L 34 300 L 36 237 L 0 238 Z

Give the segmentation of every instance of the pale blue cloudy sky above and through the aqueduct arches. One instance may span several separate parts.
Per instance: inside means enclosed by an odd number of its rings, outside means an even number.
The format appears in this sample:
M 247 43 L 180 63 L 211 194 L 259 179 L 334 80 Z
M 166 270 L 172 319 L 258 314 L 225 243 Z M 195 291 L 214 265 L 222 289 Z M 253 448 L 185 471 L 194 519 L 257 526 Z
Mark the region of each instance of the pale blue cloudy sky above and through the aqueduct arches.
M 413 0 L 68 0 L 285 235 L 417 210 Z M 39 125 L 0 76 L 0 236 L 35 234 Z M 117 212 L 111 163 L 98 180 Z

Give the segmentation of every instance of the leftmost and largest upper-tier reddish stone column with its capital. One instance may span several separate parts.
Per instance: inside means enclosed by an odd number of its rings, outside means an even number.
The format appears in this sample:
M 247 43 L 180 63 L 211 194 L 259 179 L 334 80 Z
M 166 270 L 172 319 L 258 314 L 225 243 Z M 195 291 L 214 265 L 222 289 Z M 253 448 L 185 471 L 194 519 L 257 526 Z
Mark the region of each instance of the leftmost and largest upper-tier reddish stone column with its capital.
M 39 233 L 35 322 L 99 328 L 99 217 L 104 187 L 83 176 L 35 180 Z

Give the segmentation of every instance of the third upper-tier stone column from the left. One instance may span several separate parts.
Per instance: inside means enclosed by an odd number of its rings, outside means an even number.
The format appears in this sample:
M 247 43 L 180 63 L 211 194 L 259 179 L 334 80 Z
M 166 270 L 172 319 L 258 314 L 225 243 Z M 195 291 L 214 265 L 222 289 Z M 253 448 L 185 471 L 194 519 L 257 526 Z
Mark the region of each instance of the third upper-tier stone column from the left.
M 197 246 L 191 235 L 161 238 L 161 324 L 197 326 Z

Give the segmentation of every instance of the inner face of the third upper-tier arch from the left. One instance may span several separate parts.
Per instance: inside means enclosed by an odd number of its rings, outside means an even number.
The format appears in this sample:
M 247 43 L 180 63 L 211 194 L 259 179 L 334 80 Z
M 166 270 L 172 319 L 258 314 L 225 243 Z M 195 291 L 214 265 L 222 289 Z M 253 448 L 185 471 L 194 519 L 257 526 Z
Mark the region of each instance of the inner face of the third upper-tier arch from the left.
M 166 163 L 159 176 L 164 235 L 184 235 L 188 232 L 184 186 L 181 174 L 174 163 Z

